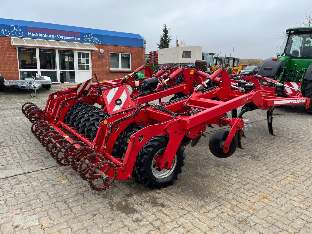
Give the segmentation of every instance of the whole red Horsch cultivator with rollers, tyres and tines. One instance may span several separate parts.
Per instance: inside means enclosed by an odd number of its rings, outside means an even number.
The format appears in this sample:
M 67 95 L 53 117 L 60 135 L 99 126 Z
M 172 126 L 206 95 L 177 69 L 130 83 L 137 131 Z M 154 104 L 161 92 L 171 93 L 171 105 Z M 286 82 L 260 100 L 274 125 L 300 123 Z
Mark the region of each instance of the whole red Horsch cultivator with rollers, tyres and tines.
M 143 69 L 147 77 L 139 79 L 136 73 Z M 158 104 L 149 103 L 153 100 Z M 70 165 L 99 191 L 132 177 L 150 187 L 171 185 L 182 172 L 184 146 L 195 146 L 207 126 L 231 127 L 217 131 L 208 144 L 213 155 L 227 158 L 243 149 L 244 113 L 267 110 L 273 134 L 275 106 L 309 103 L 300 90 L 287 93 L 283 84 L 262 76 L 229 76 L 223 68 L 208 74 L 191 66 L 154 74 L 141 66 L 119 80 L 89 80 L 54 92 L 44 110 L 26 103 L 22 112 L 56 162 Z

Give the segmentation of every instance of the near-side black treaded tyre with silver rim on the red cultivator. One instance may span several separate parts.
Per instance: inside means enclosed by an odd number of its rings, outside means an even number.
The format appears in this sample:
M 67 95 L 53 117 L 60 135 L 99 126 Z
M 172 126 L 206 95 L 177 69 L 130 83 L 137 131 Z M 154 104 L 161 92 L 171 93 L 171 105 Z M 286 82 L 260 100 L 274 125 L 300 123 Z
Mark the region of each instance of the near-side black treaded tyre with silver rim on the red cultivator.
M 168 136 L 157 136 L 150 139 L 140 150 L 134 162 L 133 175 L 139 182 L 151 188 L 167 187 L 178 179 L 184 165 L 184 147 L 179 145 L 172 168 L 160 169 L 159 163 L 168 144 Z

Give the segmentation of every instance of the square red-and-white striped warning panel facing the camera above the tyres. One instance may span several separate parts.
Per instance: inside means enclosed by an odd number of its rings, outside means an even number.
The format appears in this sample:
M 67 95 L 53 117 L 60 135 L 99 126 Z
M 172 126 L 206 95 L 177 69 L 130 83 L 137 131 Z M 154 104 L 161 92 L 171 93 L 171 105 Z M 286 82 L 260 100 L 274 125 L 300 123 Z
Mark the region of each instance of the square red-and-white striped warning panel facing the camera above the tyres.
M 104 90 L 102 94 L 109 115 L 135 108 L 135 104 L 129 95 L 127 85 Z

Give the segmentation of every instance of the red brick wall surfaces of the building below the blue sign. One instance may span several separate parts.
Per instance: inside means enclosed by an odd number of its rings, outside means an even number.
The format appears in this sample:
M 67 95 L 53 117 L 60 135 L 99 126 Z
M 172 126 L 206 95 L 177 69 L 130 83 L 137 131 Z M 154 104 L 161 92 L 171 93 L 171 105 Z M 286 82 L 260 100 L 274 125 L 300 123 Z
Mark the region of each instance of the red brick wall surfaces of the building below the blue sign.
M 91 51 L 92 74 L 99 80 L 121 78 L 131 71 L 110 70 L 110 52 L 131 53 L 131 69 L 134 70 L 145 63 L 145 49 L 129 46 L 95 45 L 98 50 Z M 34 47 L 34 46 L 32 46 Z M 39 47 L 44 48 L 44 47 Z M 51 47 L 49 47 L 51 48 Z M 58 48 L 68 50 L 68 48 Z M 104 49 L 104 53 L 100 53 Z M 11 37 L 0 37 L 0 73 L 6 80 L 18 80 L 18 61 L 16 46 L 11 46 Z M 92 77 L 95 81 L 94 76 Z

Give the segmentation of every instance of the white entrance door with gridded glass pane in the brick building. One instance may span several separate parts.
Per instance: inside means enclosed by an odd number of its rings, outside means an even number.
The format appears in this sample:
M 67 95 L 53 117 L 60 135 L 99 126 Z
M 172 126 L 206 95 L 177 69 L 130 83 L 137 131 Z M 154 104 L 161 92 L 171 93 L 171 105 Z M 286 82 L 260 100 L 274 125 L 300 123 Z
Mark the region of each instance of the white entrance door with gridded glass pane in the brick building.
M 76 51 L 77 58 L 77 82 L 81 83 L 92 78 L 91 52 Z

